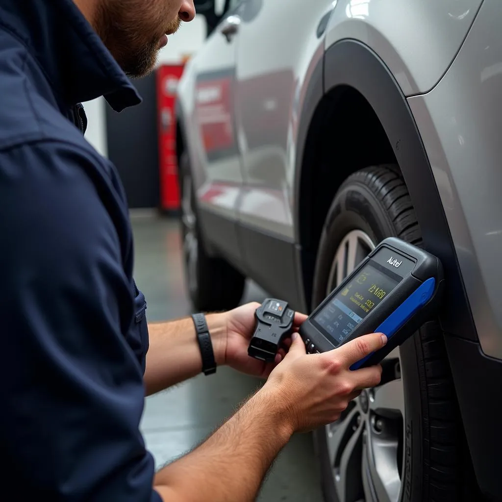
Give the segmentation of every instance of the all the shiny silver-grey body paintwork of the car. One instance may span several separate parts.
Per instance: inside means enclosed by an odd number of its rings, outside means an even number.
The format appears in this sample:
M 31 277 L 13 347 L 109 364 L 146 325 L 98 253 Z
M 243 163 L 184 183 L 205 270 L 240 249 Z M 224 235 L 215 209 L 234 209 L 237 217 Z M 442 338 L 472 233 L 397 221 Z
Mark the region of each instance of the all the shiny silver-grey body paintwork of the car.
M 296 131 L 309 79 L 330 45 L 361 41 L 408 96 L 482 349 L 502 358 L 501 9 L 497 0 L 290 0 L 287 9 L 274 0 L 244 0 L 230 13 L 235 34 L 222 34 L 223 21 L 179 86 L 199 204 L 294 242 Z M 211 84 L 216 91 L 208 91 Z M 224 148 L 217 131 L 226 135 Z

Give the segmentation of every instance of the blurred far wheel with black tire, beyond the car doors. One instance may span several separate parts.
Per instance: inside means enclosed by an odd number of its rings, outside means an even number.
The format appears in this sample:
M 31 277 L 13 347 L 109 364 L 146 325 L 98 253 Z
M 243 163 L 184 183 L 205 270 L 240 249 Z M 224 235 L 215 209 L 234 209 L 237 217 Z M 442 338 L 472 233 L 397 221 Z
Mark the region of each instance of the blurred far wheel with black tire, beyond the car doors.
M 245 277 L 228 262 L 206 252 L 196 207 L 188 154 L 179 164 L 181 190 L 181 237 L 185 283 L 196 311 L 230 310 L 239 305 Z

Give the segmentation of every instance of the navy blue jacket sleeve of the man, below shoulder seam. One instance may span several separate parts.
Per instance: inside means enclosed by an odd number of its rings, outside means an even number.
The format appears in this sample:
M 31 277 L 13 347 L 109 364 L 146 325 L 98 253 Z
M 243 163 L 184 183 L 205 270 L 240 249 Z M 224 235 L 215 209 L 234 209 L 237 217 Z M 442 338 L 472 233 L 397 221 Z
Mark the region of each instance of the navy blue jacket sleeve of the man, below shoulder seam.
M 56 142 L 0 152 L 2 478 L 26 500 L 157 502 L 127 207 L 96 162 Z

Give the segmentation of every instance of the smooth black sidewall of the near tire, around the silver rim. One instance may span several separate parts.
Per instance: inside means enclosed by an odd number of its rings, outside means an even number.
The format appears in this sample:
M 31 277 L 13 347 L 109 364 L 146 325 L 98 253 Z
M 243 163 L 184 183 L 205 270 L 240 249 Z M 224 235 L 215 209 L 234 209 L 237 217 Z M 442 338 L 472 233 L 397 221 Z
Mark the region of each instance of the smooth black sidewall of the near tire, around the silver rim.
M 340 187 L 322 231 L 314 273 L 312 310 L 326 297 L 327 281 L 336 250 L 351 230 L 362 230 L 374 243 L 389 236 L 397 236 L 385 209 L 373 193 L 362 183 L 348 180 Z M 406 410 L 406 423 L 403 424 L 405 444 L 401 502 L 422 499 L 422 409 L 418 377 L 418 336 L 415 334 L 410 337 L 400 347 Z M 314 438 L 321 461 L 325 498 L 327 502 L 338 502 L 325 428 L 316 430 Z

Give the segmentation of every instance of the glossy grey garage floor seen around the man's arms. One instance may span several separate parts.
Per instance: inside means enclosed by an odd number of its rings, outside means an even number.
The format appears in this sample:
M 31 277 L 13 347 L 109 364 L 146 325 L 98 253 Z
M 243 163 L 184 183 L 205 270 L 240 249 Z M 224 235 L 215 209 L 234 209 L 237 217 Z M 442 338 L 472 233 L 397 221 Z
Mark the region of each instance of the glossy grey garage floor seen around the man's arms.
M 135 278 L 146 295 L 149 320 L 189 314 L 177 220 L 134 215 L 133 228 Z M 261 301 L 264 295 L 249 284 L 244 302 Z M 258 380 L 219 368 L 215 375 L 197 376 L 147 398 L 141 427 L 157 467 L 196 446 L 258 385 Z M 258 500 L 320 502 L 318 479 L 311 435 L 295 435 L 278 457 Z

